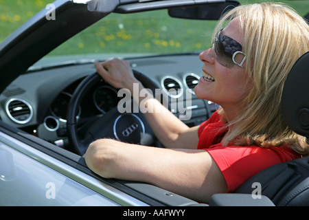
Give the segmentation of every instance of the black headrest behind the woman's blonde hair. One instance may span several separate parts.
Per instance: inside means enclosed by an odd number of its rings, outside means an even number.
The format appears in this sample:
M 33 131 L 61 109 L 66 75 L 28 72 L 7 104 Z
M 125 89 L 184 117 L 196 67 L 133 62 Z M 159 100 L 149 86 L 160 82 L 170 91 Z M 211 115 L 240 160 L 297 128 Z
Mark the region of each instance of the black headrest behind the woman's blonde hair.
M 309 137 L 309 52 L 297 60 L 288 74 L 281 104 L 284 121 L 290 129 Z

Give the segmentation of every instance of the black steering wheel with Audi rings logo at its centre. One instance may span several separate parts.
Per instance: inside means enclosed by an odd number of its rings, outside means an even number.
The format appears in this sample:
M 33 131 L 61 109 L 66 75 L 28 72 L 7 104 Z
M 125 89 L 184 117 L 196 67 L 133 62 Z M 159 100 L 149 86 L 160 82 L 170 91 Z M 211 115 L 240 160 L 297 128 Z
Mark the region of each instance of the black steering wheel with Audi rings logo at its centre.
M 133 73 L 145 88 L 151 89 L 152 94 L 155 94 L 155 89 L 159 88 L 157 84 L 136 70 L 133 70 Z M 114 107 L 100 118 L 96 119 L 95 122 L 89 126 L 84 137 L 78 135 L 77 127 L 79 118 L 76 115 L 78 115 L 82 98 L 84 98 L 84 95 L 87 94 L 87 91 L 89 91 L 93 85 L 100 81 L 104 80 L 97 72 L 84 78 L 74 91 L 69 102 L 67 111 L 67 135 L 70 144 L 73 145 L 71 150 L 78 153 L 78 155 L 84 155 L 91 142 L 103 137 L 110 137 L 131 144 L 150 145 L 155 142 L 155 134 L 150 129 L 143 113 L 140 111 L 138 111 L 138 113 L 135 113 L 135 111 L 119 113 L 117 107 Z M 130 104 L 131 107 L 133 107 L 133 104 L 136 103 L 131 99 Z M 137 108 L 135 107 L 135 109 Z

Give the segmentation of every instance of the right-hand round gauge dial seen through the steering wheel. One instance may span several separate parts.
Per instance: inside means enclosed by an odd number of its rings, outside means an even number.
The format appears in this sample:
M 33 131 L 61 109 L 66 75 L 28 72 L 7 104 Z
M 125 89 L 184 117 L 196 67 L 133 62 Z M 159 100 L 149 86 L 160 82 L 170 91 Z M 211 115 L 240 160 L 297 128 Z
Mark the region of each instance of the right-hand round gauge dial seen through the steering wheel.
M 117 96 L 116 89 L 103 85 L 95 89 L 93 93 L 93 102 L 99 111 L 106 113 L 117 106 L 119 97 Z

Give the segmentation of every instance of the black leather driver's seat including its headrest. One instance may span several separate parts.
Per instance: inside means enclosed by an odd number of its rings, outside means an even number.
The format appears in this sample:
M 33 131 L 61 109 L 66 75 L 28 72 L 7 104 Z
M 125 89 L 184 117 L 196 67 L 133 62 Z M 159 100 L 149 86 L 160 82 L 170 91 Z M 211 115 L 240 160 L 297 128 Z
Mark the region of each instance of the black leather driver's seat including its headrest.
M 290 129 L 309 137 L 309 52 L 284 83 L 282 115 Z M 255 195 L 260 186 L 260 197 Z M 216 194 L 209 206 L 309 206 L 309 157 L 276 164 L 246 181 L 233 194 Z

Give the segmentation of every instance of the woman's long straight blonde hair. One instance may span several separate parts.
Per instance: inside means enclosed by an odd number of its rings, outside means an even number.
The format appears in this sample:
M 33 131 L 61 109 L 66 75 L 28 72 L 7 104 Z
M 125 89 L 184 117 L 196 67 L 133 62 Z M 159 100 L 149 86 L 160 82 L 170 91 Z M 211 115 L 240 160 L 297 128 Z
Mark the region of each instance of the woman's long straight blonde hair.
M 309 25 L 292 8 L 281 3 L 241 5 L 227 12 L 216 32 L 238 17 L 247 55 L 246 72 L 253 82 L 243 110 L 228 124 L 237 124 L 223 140 L 226 145 L 290 146 L 308 155 L 306 137 L 288 128 L 281 112 L 284 82 L 297 59 L 309 51 Z M 219 111 L 222 116 L 224 110 Z

